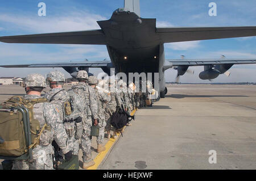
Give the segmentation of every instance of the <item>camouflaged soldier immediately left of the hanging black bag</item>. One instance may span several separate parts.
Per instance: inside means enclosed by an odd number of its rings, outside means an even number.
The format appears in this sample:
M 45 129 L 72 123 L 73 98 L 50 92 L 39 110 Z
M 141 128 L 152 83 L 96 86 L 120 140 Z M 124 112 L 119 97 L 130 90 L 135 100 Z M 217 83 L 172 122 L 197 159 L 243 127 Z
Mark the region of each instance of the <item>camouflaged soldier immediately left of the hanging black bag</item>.
M 110 102 L 108 102 L 108 104 L 106 105 L 106 131 L 107 131 L 107 138 L 110 138 L 110 131 L 114 128 L 112 128 L 110 121 L 111 121 L 111 116 L 113 115 L 113 113 L 115 111 L 117 111 L 117 106 L 121 107 L 122 105 L 122 100 L 120 98 L 119 95 L 119 91 L 115 88 L 115 81 L 112 79 L 109 79 L 109 91 L 110 91 L 110 97 L 111 100 Z M 116 139 L 117 138 L 117 132 L 115 130 L 113 130 L 113 138 Z

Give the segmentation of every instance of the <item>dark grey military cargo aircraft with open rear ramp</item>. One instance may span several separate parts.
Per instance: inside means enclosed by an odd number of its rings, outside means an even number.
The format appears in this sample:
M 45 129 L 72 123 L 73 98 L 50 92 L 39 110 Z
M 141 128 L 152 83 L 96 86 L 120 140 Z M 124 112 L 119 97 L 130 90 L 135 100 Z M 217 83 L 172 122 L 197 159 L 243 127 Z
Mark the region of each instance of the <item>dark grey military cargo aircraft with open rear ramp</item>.
M 166 59 L 164 43 L 256 36 L 256 27 L 156 27 L 156 19 L 141 18 L 139 0 L 125 0 L 124 8 L 115 10 L 109 20 L 98 21 L 101 30 L 3 36 L 5 43 L 91 44 L 106 45 L 111 61 L 63 62 L 57 64 L 1 65 L 3 68 L 63 68 L 72 76 L 78 70 L 110 68 L 123 73 L 159 73 L 159 96 L 167 88 L 164 71 L 172 68 L 184 75 L 189 66 L 204 66 L 201 79 L 214 79 L 234 64 L 255 64 L 255 59 Z

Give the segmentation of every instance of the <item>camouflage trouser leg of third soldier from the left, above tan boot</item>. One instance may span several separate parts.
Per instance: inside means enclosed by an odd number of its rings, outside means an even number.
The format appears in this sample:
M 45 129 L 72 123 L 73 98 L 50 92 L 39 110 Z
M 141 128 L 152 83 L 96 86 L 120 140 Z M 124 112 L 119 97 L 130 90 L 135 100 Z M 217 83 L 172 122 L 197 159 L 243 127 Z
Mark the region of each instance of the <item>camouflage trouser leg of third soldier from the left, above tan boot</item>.
M 82 161 L 88 163 L 92 161 L 92 153 L 90 150 L 90 128 L 92 127 L 92 118 L 83 118 L 82 127 Z

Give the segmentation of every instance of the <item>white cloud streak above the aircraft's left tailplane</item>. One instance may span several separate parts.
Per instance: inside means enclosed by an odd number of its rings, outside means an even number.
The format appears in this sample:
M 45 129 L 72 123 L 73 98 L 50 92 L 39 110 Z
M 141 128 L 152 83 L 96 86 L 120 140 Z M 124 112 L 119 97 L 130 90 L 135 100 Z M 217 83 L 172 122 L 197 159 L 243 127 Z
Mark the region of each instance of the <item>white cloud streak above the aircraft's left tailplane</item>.
M 67 15 L 39 17 L 0 14 L 0 22 L 13 24 L 17 28 L 36 33 L 45 32 L 65 32 L 65 31 L 83 31 L 98 29 L 100 26 L 97 20 L 105 20 L 106 18 L 97 14 L 89 14 L 88 12 L 69 12 Z

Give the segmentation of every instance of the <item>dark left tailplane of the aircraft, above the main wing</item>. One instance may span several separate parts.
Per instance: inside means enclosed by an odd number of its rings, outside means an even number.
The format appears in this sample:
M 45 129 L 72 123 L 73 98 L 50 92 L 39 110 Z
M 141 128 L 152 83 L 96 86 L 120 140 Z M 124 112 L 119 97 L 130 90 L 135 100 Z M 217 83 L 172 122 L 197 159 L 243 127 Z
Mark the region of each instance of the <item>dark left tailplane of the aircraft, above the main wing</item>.
M 93 44 L 105 45 L 102 30 L 89 30 L 62 33 L 44 33 L 35 35 L 2 36 L 4 43 L 40 43 L 40 44 Z

